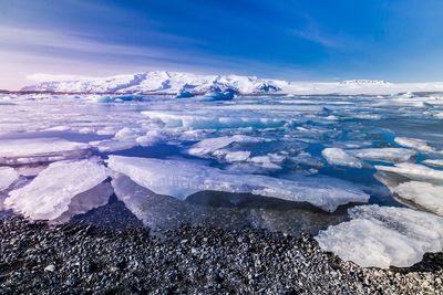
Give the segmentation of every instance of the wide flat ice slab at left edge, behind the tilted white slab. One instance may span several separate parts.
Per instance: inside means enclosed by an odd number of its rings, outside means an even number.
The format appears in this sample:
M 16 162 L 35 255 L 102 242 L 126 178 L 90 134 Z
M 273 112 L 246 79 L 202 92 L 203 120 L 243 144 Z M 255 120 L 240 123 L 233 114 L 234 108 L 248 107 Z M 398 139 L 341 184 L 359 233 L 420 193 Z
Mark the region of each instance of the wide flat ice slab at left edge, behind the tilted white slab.
M 83 158 L 90 145 L 61 138 L 0 140 L 0 165 L 51 162 Z

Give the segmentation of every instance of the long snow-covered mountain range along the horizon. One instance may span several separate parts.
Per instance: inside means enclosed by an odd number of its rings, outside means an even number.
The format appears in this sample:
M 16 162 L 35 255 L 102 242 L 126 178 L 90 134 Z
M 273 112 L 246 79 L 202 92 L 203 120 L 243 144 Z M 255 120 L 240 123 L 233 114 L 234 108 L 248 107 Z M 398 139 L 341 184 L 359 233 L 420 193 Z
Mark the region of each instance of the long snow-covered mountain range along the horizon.
M 190 73 L 154 71 L 128 75 L 75 81 L 43 82 L 23 87 L 27 92 L 56 93 L 116 93 L 167 94 L 179 97 L 216 94 L 371 94 L 385 95 L 406 92 L 443 92 L 443 83 L 389 83 L 378 80 L 349 80 L 342 82 L 287 82 L 239 75 L 197 75 Z

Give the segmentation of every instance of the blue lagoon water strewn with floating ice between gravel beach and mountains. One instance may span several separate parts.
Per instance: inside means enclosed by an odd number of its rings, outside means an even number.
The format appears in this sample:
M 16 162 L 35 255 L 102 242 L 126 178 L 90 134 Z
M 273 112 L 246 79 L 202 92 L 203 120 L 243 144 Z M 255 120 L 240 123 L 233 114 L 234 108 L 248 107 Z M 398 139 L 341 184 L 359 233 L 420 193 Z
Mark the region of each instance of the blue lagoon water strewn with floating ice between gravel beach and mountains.
M 395 192 L 442 192 L 439 96 L 135 98 L 0 97 L 0 217 L 317 234 L 363 203 L 441 214 Z

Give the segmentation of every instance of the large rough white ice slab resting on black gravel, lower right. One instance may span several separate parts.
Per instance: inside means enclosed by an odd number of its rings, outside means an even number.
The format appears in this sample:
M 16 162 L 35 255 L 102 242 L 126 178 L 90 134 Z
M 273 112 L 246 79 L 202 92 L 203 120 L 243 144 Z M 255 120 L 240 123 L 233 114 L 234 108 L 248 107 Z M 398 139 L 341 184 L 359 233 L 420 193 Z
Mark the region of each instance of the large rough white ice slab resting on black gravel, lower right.
M 408 267 L 443 247 L 443 218 L 406 208 L 360 206 L 351 221 L 316 236 L 322 250 L 363 267 Z

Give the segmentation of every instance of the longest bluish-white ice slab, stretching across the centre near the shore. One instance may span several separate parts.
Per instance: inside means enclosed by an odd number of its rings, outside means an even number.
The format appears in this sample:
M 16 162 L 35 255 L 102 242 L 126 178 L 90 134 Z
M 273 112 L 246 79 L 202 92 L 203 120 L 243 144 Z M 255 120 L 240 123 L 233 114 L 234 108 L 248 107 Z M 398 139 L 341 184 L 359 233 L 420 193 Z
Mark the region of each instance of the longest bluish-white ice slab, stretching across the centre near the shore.
M 296 180 L 258 175 L 235 175 L 182 160 L 110 156 L 109 167 L 155 193 L 184 200 L 198 191 L 253 193 L 288 201 L 309 202 L 326 211 L 349 202 L 367 202 L 358 187 L 334 178 Z

